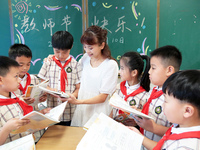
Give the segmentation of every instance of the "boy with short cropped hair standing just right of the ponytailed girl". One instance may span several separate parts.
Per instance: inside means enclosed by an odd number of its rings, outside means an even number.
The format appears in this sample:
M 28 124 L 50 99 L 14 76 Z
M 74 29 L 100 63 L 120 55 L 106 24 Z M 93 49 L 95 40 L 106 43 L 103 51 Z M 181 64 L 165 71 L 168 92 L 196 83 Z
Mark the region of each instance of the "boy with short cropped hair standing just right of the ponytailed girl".
M 136 119 L 141 127 L 141 133 L 151 140 L 159 141 L 170 126 L 162 109 L 164 103 L 162 86 L 170 75 L 179 71 L 181 62 L 181 53 L 174 46 L 163 46 L 150 53 L 149 78 L 156 87 L 149 92 L 150 96 L 142 112 L 151 116 L 153 120 L 139 117 Z

